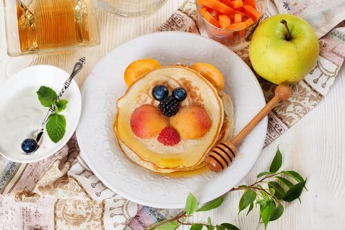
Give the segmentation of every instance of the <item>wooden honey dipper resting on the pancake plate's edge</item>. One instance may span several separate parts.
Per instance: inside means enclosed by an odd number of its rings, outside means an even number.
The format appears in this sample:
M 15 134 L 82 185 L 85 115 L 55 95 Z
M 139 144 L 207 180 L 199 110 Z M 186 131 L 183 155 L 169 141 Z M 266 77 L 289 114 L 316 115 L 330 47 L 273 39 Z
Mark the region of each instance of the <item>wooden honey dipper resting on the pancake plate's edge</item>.
M 291 94 L 288 85 L 278 85 L 275 88 L 275 96 L 263 107 L 260 112 L 244 127 L 230 142 L 223 141 L 215 146 L 206 157 L 206 165 L 211 171 L 219 172 L 226 169 L 237 154 L 237 147 L 246 136 L 252 132 L 257 124 L 279 103 L 286 101 Z

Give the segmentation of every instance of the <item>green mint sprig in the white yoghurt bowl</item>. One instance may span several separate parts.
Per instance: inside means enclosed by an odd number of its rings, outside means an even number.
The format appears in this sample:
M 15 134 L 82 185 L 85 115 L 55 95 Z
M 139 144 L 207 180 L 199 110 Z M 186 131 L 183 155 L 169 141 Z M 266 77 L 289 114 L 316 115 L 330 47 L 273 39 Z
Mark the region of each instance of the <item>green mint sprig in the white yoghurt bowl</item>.
M 58 143 L 66 133 L 66 118 L 59 113 L 66 109 L 68 101 L 66 99 L 57 101 L 57 93 L 50 87 L 41 86 L 36 93 L 41 105 L 52 107 L 54 110 L 48 118 L 46 130 L 50 140 Z

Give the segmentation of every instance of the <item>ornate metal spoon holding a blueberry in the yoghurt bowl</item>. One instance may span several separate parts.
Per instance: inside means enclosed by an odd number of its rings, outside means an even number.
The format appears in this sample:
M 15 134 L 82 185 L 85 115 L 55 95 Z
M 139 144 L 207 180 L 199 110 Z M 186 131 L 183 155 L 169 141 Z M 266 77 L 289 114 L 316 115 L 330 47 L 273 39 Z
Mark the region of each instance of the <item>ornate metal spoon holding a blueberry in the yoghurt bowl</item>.
M 63 84 L 63 87 L 59 95 L 57 96 L 57 101 L 60 101 L 61 96 L 67 90 L 67 88 L 70 87 L 72 79 L 81 71 L 85 62 L 86 57 L 83 56 L 77 63 L 75 63 L 72 74 L 70 74 L 70 77 Z M 43 139 L 44 125 L 46 125 L 50 114 L 52 114 L 53 112 L 55 112 L 55 105 L 52 105 L 52 107 L 49 108 L 48 113 L 41 124 L 41 127 L 39 127 L 33 133 L 34 138 L 26 138 L 25 140 L 23 140 L 23 142 L 21 143 L 21 149 L 25 154 L 33 154 L 35 151 L 37 151 L 37 149 L 39 149 L 39 146 L 41 145 Z

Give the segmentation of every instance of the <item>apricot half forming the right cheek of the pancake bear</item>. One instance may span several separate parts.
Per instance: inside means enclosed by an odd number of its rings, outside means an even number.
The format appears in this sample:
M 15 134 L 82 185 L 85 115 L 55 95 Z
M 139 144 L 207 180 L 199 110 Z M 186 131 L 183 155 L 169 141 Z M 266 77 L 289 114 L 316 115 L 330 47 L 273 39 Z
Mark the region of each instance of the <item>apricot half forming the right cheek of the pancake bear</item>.
M 183 107 L 170 119 L 170 126 L 186 139 L 201 138 L 208 132 L 211 123 L 210 115 L 200 106 Z

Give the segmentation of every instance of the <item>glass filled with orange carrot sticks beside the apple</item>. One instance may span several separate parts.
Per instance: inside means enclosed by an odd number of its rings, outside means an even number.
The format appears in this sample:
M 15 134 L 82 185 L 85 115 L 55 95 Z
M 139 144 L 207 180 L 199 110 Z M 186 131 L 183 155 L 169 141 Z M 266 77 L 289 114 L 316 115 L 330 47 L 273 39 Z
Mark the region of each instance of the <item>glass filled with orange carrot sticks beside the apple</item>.
M 264 17 L 268 0 L 196 0 L 201 35 L 228 46 L 245 48 Z

